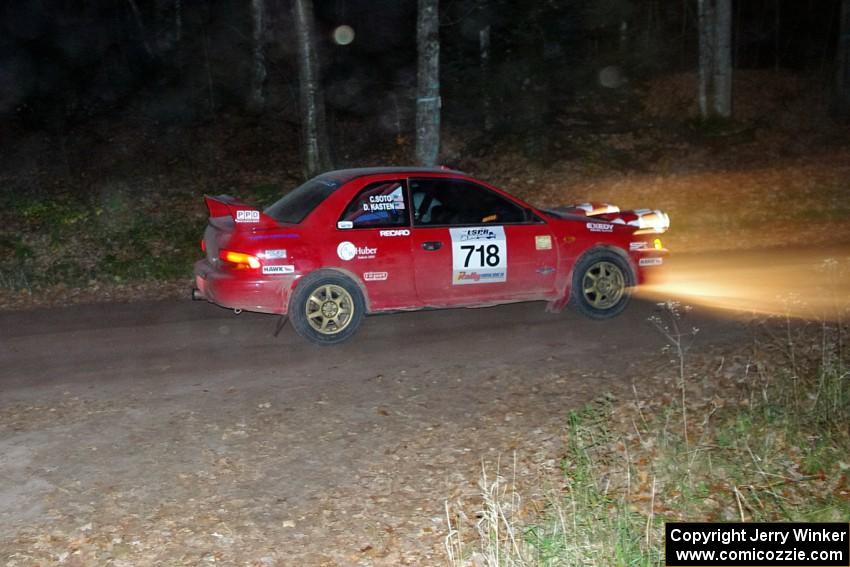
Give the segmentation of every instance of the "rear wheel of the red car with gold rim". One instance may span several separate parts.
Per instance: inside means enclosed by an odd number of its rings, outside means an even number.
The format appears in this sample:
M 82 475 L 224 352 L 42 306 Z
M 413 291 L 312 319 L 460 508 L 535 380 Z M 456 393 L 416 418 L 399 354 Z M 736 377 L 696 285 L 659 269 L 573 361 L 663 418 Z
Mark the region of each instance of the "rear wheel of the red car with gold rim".
M 365 311 L 357 284 L 331 271 L 305 276 L 289 300 L 289 320 L 295 332 L 318 345 L 337 345 L 350 339 Z

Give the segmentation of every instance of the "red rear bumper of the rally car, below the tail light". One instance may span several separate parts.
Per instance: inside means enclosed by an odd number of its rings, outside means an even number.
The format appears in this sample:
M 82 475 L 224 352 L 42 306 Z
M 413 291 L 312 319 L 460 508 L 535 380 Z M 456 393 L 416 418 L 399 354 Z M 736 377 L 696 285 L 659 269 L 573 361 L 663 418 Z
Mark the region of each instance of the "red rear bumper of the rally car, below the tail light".
M 285 314 L 294 276 L 272 278 L 233 274 L 216 269 L 208 260 L 195 262 L 193 297 L 228 309 Z

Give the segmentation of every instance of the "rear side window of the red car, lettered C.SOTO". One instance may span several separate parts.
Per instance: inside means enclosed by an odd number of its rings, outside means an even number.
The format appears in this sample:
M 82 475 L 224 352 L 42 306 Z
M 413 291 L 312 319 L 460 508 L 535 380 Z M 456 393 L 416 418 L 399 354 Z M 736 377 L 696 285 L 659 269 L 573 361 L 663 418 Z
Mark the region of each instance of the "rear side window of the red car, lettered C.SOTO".
M 348 204 L 339 220 L 350 222 L 351 228 L 408 226 L 404 182 L 379 181 L 367 185 Z

